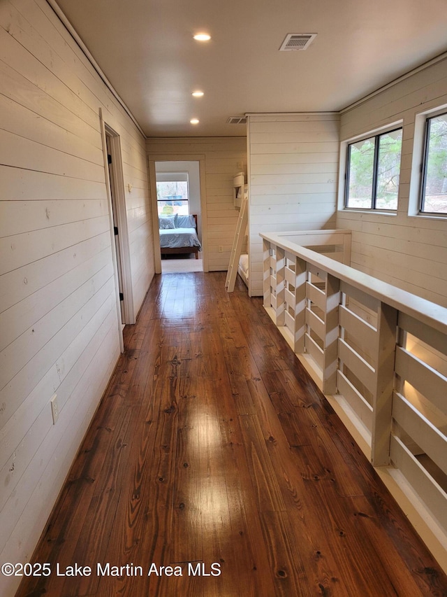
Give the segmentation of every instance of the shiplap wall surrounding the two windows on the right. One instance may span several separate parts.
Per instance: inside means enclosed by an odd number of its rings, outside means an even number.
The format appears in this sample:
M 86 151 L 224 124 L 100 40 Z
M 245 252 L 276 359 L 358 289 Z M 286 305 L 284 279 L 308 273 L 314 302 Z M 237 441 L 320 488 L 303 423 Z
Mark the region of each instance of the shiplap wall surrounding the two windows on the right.
M 417 188 L 411 188 L 417 185 L 417 176 L 413 176 L 413 181 L 411 176 L 419 169 L 422 155 L 420 145 L 414 146 L 416 116 L 446 104 L 447 59 L 444 59 L 344 111 L 340 122 L 342 141 L 402 120 L 402 168 L 397 215 L 348 210 L 337 213 L 337 226 L 353 231 L 353 267 L 444 307 L 447 307 L 447 218 L 409 216 L 409 201 L 413 191 L 418 193 Z M 415 160 L 413 151 L 416 151 Z

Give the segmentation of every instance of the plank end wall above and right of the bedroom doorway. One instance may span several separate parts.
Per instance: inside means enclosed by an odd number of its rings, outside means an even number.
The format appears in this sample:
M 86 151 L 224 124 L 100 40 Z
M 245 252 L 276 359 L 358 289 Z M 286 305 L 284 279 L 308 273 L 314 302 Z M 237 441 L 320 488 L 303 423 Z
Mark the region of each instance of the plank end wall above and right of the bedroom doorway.
M 233 176 L 247 168 L 247 139 L 240 137 L 152 138 L 146 143 L 149 160 L 205 158 L 206 221 L 202 224 L 210 272 L 224 271 L 230 262 L 237 216 L 233 206 Z M 203 214 L 202 214 L 203 216 Z M 222 251 L 219 252 L 219 246 Z

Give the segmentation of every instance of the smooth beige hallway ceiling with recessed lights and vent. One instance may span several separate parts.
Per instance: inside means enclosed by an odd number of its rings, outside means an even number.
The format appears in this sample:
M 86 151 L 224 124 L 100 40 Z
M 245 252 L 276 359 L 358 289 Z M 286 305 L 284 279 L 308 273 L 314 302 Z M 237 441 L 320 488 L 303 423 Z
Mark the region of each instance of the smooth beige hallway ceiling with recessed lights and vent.
M 147 136 L 244 135 L 230 116 L 338 111 L 447 50 L 446 0 L 57 3 Z M 193 39 L 202 31 L 209 42 Z M 318 35 L 279 52 L 288 33 Z

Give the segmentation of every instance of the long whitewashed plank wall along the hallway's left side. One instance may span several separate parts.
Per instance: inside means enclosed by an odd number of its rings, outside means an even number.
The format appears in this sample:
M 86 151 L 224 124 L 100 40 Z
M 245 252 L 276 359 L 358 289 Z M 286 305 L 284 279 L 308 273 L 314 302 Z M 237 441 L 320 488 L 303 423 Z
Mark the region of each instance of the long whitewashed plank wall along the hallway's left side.
M 45 0 L 0 3 L 0 81 L 0 561 L 24 562 L 119 356 L 99 108 L 133 185 L 135 313 L 154 255 L 145 139 Z

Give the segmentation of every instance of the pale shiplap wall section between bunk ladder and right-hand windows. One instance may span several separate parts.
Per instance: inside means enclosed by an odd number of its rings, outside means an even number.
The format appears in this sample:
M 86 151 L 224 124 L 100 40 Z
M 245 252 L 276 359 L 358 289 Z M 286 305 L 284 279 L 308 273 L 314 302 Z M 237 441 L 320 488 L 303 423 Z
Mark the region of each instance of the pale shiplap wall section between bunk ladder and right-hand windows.
M 339 117 L 250 115 L 250 294 L 263 294 L 260 232 L 335 227 Z

